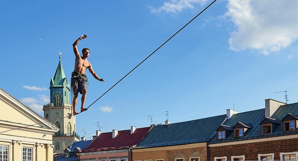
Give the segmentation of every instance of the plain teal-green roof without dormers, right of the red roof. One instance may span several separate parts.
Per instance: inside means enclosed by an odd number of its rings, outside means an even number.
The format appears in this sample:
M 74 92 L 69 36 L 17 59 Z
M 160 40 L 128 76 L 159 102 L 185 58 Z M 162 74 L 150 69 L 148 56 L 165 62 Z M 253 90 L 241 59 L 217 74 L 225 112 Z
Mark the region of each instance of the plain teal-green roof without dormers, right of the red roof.
M 226 115 L 219 115 L 154 126 L 134 149 L 207 142 L 215 135 L 215 129 L 225 118 Z

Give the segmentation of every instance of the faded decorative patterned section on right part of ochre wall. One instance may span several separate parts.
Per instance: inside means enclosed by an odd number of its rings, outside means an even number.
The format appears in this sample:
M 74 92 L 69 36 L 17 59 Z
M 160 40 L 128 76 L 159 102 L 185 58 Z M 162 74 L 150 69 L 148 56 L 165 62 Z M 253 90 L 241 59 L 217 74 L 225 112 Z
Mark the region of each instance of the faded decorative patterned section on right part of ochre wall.
M 167 161 L 175 161 L 175 158 L 184 158 L 189 161 L 190 157 L 200 157 L 200 160 L 207 160 L 207 147 L 172 149 L 167 150 Z

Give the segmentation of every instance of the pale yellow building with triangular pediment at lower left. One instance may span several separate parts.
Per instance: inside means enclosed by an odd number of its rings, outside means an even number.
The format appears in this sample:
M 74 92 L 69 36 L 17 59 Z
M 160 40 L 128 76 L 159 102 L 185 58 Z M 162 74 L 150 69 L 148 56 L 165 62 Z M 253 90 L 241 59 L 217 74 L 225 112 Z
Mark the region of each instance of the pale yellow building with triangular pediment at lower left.
M 46 121 L 0 88 L 0 161 L 52 161 L 59 129 Z

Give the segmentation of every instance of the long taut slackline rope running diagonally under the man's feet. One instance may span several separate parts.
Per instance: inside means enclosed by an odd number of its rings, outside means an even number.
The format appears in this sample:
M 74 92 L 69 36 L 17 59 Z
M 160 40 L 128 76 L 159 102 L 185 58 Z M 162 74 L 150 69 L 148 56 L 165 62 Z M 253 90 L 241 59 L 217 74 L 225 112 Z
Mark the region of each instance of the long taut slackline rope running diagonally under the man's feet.
M 212 3 L 210 3 L 204 10 L 202 10 L 198 15 L 196 15 L 193 19 L 191 19 L 187 24 L 185 24 L 181 29 L 179 29 L 174 35 L 172 35 L 169 39 L 167 39 L 167 41 L 165 41 L 161 46 L 159 46 L 156 50 L 154 50 L 148 57 L 146 57 L 142 62 L 140 62 L 136 67 L 134 67 L 130 72 L 128 72 L 125 76 L 123 76 L 116 84 L 114 84 L 110 89 L 108 89 L 105 93 L 103 93 L 100 97 L 98 97 L 98 99 L 96 99 L 92 104 L 90 104 L 87 109 L 89 107 L 91 107 L 96 101 L 98 101 L 101 97 L 103 97 L 106 93 L 108 93 L 108 91 L 110 91 L 113 87 L 115 87 L 119 82 L 122 81 L 122 79 L 124 79 L 126 76 L 128 76 L 128 74 L 130 74 L 132 71 L 134 71 L 139 65 L 141 65 L 143 62 L 145 62 L 145 60 L 147 60 L 151 55 L 153 55 L 158 49 L 160 49 L 162 46 L 164 46 L 164 44 L 166 44 L 169 40 L 171 40 L 175 35 L 177 35 L 182 29 L 184 29 L 184 27 L 186 27 L 188 24 L 190 24 L 195 18 L 197 18 L 199 15 L 201 15 L 201 13 L 203 13 L 205 10 L 207 10 L 207 8 L 209 8 L 215 1 L 217 0 L 214 0 Z M 84 111 L 82 111 L 84 112 Z M 82 113 L 82 112 L 79 112 L 78 114 Z M 78 115 L 77 114 L 77 115 Z M 62 118 L 66 118 L 66 117 L 69 117 L 69 116 L 65 116 L 65 117 L 62 117 Z M 44 121 L 44 122 L 41 122 L 41 123 L 46 123 L 46 122 L 50 122 L 50 121 L 54 121 L 54 120 L 59 120 L 61 118 L 56 118 L 56 119 L 53 119 L 53 120 L 49 120 L 49 121 Z M 41 123 L 37 123 L 37 124 L 41 124 Z M 29 126 L 34 126 L 34 125 L 37 125 L 37 124 L 33 124 L 33 125 L 28 125 L 28 126 L 24 126 L 24 127 L 20 127 L 20 128 L 16 128 L 16 129 L 11 129 L 11 130 L 7 130 L 7 131 L 3 131 L 3 132 L 8 132 L 8 131 L 12 131 L 12 130 L 17 130 L 17 129 L 21 129 L 21 128 L 25 128 L 25 127 L 29 127 Z M 0 132 L 0 133 L 3 133 L 3 132 Z

